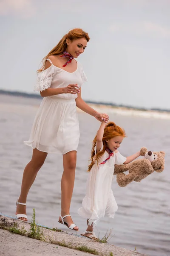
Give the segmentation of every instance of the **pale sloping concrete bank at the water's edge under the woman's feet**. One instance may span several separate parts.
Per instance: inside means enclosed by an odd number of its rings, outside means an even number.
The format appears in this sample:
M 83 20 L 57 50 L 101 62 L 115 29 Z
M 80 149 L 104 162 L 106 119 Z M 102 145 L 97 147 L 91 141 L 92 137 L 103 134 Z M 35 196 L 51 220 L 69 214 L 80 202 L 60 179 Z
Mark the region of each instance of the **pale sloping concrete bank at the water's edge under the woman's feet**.
M 99 243 L 72 233 L 56 232 L 43 227 L 41 227 L 41 230 L 43 230 L 45 241 L 31 239 L 26 236 L 21 236 L 2 229 L 2 227 L 10 228 L 14 225 L 15 227 L 17 225 L 18 229 L 21 229 L 22 225 L 24 225 L 24 229 L 27 232 L 30 230 L 29 223 L 0 215 L 0 255 L 2 256 L 93 255 L 84 251 L 70 249 L 68 248 L 70 245 L 73 248 L 86 246 L 91 250 L 95 250 L 97 253 L 95 255 L 99 256 L 144 256 L 144 254 L 116 247 L 111 244 Z M 64 242 L 68 247 L 62 247 L 58 244 L 51 244 L 49 239 L 56 242 Z

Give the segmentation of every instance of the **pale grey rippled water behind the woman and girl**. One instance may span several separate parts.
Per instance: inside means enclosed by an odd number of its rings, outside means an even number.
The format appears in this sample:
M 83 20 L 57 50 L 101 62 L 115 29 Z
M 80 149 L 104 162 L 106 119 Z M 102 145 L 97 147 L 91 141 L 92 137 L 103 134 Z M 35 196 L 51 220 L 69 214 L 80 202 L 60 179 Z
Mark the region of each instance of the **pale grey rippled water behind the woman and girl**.
M 31 159 L 32 149 L 23 145 L 29 138 L 34 116 L 40 104 L 39 99 L 0 95 L 0 212 L 14 216 L 15 202 L 20 194 L 23 169 Z M 88 158 L 91 141 L 99 128 L 93 117 L 78 113 L 80 142 L 77 154 L 77 169 L 71 215 L 80 227 L 86 228 L 86 221 L 79 217 L 77 209 L 85 196 Z M 110 114 L 110 120 L 125 128 L 120 152 L 131 155 L 146 146 L 152 151 L 166 151 L 165 169 L 154 172 L 141 183 L 131 183 L 121 188 L 113 180 L 118 211 L 114 219 L 104 218 L 99 222 L 100 237 L 113 228 L 110 243 L 150 256 L 170 255 L 170 120 L 148 119 L 138 116 Z M 48 154 L 44 166 L 37 175 L 28 194 L 27 214 L 31 219 L 32 208 L 36 210 L 39 224 L 67 230 L 58 223 L 60 213 L 60 180 L 62 157 Z

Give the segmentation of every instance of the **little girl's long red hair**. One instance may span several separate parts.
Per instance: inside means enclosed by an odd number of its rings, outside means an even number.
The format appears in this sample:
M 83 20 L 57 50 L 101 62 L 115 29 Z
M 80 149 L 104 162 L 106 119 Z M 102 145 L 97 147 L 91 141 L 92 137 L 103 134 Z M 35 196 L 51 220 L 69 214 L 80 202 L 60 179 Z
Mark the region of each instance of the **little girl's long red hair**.
M 88 166 L 88 172 L 90 172 L 91 168 L 94 166 L 94 162 L 97 161 L 99 158 L 105 153 L 106 150 L 106 140 L 110 140 L 116 136 L 122 136 L 122 137 L 126 137 L 125 134 L 125 130 L 122 129 L 121 127 L 119 127 L 118 125 L 116 125 L 114 122 L 109 122 L 104 129 L 104 133 L 103 133 L 103 138 L 102 138 L 102 142 L 103 142 L 103 150 L 98 152 L 97 154 L 95 154 L 94 148 L 96 146 L 96 142 L 97 142 L 97 134 L 93 140 L 93 146 L 92 146 L 92 150 L 91 150 L 91 158 L 90 161 L 91 163 Z

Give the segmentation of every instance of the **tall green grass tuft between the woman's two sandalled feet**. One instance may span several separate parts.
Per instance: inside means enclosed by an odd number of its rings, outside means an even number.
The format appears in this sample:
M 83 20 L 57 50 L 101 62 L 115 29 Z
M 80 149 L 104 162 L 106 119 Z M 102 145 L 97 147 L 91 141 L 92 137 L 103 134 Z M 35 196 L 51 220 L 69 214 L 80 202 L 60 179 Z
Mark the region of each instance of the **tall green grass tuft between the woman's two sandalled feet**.
M 30 224 L 30 232 L 28 233 L 28 237 L 34 238 L 37 240 L 45 241 L 44 235 L 43 235 L 43 230 L 39 226 L 37 226 L 35 222 L 35 209 L 33 209 L 33 215 L 31 219 L 31 224 Z

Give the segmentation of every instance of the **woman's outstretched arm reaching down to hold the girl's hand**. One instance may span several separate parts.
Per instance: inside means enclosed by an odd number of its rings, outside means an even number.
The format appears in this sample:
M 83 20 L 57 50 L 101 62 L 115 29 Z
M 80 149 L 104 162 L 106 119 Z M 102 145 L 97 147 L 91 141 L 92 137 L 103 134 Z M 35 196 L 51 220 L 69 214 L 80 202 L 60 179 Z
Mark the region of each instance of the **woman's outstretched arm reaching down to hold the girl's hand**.
M 76 99 L 76 106 L 77 108 L 81 109 L 85 113 L 88 113 L 91 116 L 94 116 L 97 120 L 100 122 L 102 121 L 103 117 L 102 114 L 91 108 L 87 103 L 84 102 L 84 100 L 81 97 L 81 88 L 79 88 L 79 93 L 77 93 L 77 99 Z M 105 114 L 105 122 L 108 122 L 108 115 Z

